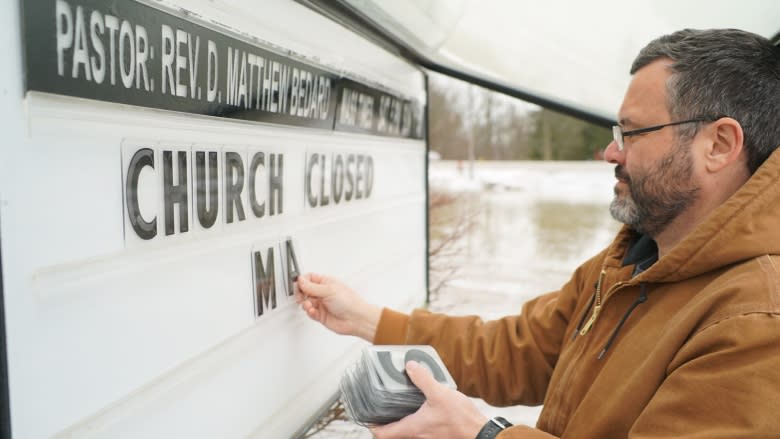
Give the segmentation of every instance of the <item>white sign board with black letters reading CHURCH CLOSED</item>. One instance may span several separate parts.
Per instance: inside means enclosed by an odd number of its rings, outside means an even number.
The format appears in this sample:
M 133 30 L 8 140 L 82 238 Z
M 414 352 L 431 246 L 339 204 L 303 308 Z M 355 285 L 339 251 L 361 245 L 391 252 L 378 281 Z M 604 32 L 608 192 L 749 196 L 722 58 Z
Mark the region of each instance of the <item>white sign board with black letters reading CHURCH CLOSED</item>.
M 13 437 L 288 437 L 360 348 L 297 309 L 292 279 L 424 300 L 422 72 L 250 3 L 3 15 Z

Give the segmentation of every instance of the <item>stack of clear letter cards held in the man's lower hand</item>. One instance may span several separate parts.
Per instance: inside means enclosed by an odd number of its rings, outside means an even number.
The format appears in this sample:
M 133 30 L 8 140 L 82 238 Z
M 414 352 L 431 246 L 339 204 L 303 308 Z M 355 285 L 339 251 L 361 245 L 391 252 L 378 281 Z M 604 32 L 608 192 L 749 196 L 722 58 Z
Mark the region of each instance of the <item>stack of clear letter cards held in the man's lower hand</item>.
M 347 416 L 357 424 L 371 426 L 395 422 L 417 411 L 425 396 L 404 371 L 408 361 L 427 367 L 447 387 L 457 387 L 431 346 L 369 346 L 341 378 Z

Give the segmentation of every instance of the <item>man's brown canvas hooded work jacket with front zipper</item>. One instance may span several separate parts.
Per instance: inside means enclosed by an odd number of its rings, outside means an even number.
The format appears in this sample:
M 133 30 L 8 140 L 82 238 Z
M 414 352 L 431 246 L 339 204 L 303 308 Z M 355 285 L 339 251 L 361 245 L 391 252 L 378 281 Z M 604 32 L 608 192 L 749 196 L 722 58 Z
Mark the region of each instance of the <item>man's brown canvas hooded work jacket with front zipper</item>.
M 433 345 L 491 404 L 544 403 L 537 429 L 500 439 L 780 437 L 780 150 L 632 278 L 635 239 L 624 228 L 520 315 L 385 309 L 374 342 Z

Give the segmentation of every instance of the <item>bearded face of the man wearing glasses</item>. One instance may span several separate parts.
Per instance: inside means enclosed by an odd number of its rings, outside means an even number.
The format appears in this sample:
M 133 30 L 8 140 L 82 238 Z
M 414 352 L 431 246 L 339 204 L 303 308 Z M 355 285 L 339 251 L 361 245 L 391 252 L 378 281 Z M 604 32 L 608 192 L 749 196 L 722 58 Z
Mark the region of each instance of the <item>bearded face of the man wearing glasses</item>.
M 668 63 L 656 61 L 634 75 L 620 110 L 624 130 L 671 122 L 666 109 Z M 690 145 L 679 142 L 673 127 L 626 137 L 624 142 L 622 152 L 608 157 L 617 165 L 618 180 L 610 213 L 654 237 L 696 200 L 699 186 Z

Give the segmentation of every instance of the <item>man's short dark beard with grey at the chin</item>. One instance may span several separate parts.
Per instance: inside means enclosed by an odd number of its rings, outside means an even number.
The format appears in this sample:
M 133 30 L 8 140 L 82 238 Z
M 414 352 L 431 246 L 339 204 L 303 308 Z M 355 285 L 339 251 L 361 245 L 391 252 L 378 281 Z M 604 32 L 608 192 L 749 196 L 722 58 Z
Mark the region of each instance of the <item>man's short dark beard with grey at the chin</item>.
M 655 166 L 629 176 L 623 166 L 615 167 L 615 177 L 625 181 L 628 192 L 615 198 L 609 212 L 616 220 L 639 233 L 658 236 L 696 199 L 699 187 L 691 181 L 693 160 L 689 145 L 677 144 Z

